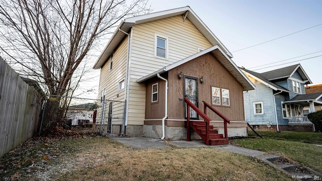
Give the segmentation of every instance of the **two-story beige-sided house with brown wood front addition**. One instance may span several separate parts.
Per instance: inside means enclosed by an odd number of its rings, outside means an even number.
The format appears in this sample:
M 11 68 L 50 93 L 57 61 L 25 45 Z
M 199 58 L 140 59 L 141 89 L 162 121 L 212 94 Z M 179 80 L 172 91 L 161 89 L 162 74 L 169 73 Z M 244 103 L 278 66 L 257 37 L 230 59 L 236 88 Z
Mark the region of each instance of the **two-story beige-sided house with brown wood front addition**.
M 125 103 L 119 134 L 130 137 L 186 139 L 184 98 L 202 111 L 205 101 L 229 118 L 228 136 L 246 136 L 243 91 L 255 86 L 231 57 L 190 7 L 127 18 L 94 65 L 101 69 L 99 97 Z M 103 110 L 98 120 L 112 112 Z M 222 119 L 209 116 L 211 128 L 223 133 Z M 200 139 L 196 133 L 192 138 Z

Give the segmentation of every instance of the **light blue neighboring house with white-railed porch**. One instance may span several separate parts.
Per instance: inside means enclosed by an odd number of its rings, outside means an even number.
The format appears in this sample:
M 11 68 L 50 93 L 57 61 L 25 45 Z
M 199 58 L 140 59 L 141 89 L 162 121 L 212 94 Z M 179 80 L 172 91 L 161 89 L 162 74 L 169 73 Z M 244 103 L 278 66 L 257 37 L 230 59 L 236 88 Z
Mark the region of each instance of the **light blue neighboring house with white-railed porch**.
M 261 130 L 314 131 L 303 108 L 315 112 L 314 105 L 322 105 L 322 93 L 305 94 L 304 84 L 312 82 L 300 64 L 264 73 L 240 69 L 256 86 L 244 92 L 245 118 L 250 125 Z

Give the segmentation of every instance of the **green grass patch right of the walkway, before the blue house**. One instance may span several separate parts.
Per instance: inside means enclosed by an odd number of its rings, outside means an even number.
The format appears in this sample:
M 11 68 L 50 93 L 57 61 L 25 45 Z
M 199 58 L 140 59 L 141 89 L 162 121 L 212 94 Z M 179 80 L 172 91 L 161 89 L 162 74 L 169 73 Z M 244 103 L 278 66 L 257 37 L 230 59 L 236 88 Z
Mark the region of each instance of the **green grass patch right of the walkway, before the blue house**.
M 263 137 L 249 132 L 248 138 L 231 139 L 232 145 L 285 156 L 322 172 L 322 133 L 258 131 Z

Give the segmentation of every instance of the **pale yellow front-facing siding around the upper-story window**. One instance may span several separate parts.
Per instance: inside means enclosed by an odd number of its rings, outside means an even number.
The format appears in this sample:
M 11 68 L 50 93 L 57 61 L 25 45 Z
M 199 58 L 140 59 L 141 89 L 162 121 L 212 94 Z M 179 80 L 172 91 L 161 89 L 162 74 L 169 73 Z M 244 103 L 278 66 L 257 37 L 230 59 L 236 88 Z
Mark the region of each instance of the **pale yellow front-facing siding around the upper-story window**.
M 212 45 L 182 16 L 135 25 L 132 30 L 128 125 L 143 125 L 146 88 L 136 80 Z M 154 34 L 169 38 L 169 59 L 154 57 Z

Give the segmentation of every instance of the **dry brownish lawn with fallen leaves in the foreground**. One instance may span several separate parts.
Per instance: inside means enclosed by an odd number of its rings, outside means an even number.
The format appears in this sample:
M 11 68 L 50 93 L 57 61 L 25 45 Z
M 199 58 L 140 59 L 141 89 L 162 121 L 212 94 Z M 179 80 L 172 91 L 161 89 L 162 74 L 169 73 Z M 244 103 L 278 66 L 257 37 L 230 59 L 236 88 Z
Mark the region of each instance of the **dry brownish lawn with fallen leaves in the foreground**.
M 104 137 L 27 141 L 0 158 L 0 180 L 10 178 L 292 180 L 263 162 L 215 147 L 134 149 Z

